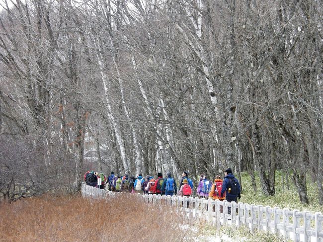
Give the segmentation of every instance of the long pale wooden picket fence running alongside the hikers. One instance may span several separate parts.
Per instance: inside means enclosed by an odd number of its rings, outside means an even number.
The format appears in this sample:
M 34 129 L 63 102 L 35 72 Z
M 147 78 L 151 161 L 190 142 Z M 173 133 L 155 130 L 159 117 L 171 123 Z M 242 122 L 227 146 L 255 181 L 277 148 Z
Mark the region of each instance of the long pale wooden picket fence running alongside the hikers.
M 116 196 L 110 192 L 83 183 L 82 195 L 95 198 Z M 177 210 L 187 212 L 188 219 L 205 219 L 209 224 L 220 229 L 221 225 L 238 228 L 246 226 L 251 231 L 269 231 L 285 239 L 295 242 L 323 242 L 322 213 L 300 212 L 298 210 L 280 209 L 279 207 L 263 207 L 246 203 L 228 203 L 212 199 L 193 197 L 141 195 L 145 202 L 170 204 Z M 228 208 L 231 214 L 228 214 Z

